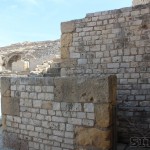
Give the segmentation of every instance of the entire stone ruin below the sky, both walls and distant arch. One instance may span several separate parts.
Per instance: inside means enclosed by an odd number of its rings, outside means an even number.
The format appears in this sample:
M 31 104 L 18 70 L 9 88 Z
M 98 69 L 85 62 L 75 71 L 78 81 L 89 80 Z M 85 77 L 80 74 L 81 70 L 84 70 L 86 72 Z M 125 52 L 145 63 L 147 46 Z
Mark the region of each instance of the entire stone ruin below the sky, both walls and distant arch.
M 60 40 L 0 47 L 4 147 L 150 149 L 149 2 L 62 22 Z

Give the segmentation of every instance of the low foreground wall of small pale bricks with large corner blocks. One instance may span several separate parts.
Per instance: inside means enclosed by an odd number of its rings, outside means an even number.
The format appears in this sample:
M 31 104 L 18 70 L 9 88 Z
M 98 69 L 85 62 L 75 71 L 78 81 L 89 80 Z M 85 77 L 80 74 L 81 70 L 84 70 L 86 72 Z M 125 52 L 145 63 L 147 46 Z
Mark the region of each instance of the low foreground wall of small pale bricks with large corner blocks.
M 116 77 L 2 78 L 3 138 L 15 150 L 112 148 Z

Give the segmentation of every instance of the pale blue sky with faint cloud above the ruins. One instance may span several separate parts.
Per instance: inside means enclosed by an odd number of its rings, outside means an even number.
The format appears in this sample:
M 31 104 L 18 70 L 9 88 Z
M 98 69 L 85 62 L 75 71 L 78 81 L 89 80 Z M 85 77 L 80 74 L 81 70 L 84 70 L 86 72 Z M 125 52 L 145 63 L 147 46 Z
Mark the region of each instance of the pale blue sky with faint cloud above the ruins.
M 0 0 L 0 46 L 60 38 L 60 23 L 129 7 L 132 0 Z

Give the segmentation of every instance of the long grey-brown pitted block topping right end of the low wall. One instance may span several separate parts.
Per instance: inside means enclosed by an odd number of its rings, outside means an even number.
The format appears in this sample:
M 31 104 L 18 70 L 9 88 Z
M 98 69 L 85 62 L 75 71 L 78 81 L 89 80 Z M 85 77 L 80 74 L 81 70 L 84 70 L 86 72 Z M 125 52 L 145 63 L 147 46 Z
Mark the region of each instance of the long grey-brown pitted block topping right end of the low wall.
M 54 99 L 67 102 L 115 103 L 116 76 L 54 79 Z

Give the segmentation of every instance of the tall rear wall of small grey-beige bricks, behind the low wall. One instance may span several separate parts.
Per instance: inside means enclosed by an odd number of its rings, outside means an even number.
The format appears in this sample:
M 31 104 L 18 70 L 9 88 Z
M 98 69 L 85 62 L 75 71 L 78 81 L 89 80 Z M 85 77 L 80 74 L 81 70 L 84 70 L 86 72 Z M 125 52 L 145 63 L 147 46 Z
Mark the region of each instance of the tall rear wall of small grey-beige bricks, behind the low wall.
M 150 4 L 87 14 L 61 24 L 62 76 L 116 74 L 119 140 L 150 120 Z

